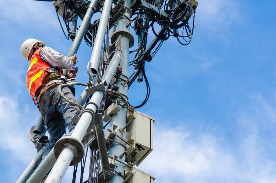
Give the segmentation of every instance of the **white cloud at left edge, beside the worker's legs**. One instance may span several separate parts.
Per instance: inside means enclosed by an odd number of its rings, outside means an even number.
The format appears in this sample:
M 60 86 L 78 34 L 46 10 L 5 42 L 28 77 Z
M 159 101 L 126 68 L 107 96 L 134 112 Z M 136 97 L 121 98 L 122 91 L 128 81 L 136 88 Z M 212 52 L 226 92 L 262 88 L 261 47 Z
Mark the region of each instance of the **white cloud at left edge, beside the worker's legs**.
M 23 110 L 22 110 L 23 109 Z M 26 115 L 26 116 L 24 116 Z M 7 97 L 0 97 L 0 147 L 9 152 L 7 158 L 28 164 L 36 154 L 34 145 L 28 139 L 30 126 L 26 124 L 31 116 L 18 102 Z M 35 114 L 33 114 L 36 117 Z M 38 118 L 37 118 L 38 119 Z

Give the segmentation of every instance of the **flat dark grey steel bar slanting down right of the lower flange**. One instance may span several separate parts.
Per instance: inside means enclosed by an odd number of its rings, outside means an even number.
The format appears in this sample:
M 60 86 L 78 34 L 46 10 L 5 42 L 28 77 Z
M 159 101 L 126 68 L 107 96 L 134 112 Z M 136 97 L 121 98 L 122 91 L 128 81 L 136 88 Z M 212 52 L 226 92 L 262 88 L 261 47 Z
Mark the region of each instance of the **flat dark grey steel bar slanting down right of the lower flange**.
M 105 176 L 111 175 L 109 161 L 108 161 L 108 154 L 106 148 L 106 141 L 104 138 L 104 129 L 103 129 L 103 115 L 96 114 L 94 123 L 94 131 L 97 137 L 99 153 L 101 157 L 101 164 L 104 172 L 104 179 Z

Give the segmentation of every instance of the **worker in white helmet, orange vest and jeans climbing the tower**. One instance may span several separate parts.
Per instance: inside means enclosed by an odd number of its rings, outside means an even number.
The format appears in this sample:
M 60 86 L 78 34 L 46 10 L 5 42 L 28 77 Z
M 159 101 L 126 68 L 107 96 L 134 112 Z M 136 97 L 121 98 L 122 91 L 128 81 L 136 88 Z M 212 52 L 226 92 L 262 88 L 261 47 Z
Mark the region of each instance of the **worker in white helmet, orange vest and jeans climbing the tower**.
M 62 69 L 68 69 L 69 77 L 76 77 L 78 67 L 74 65 L 77 57 L 63 56 L 37 39 L 24 41 L 21 45 L 21 55 L 30 61 L 26 77 L 27 88 L 34 104 L 39 108 L 51 138 L 43 153 L 43 161 L 57 140 L 66 133 L 66 126 L 69 131 L 72 130 L 71 119 L 79 110 L 62 98 L 57 87 L 66 82 Z M 70 70 L 72 68 L 74 70 Z M 62 87 L 62 93 L 69 100 L 76 102 L 69 87 Z

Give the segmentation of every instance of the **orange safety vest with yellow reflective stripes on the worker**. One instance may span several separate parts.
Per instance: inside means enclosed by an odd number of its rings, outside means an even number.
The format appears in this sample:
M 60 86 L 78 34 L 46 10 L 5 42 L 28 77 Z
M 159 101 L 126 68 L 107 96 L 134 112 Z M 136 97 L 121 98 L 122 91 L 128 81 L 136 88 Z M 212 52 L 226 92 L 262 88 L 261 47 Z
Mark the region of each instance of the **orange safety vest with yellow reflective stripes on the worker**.
M 43 85 L 43 79 L 47 75 L 47 72 L 45 71 L 48 71 L 50 68 L 49 64 L 47 64 L 40 56 L 41 48 L 37 49 L 32 55 L 26 77 L 27 88 L 32 96 L 34 104 L 37 104 L 35 92 L 41 85 Z M 60 70 L 62 71 L 62 69 Z

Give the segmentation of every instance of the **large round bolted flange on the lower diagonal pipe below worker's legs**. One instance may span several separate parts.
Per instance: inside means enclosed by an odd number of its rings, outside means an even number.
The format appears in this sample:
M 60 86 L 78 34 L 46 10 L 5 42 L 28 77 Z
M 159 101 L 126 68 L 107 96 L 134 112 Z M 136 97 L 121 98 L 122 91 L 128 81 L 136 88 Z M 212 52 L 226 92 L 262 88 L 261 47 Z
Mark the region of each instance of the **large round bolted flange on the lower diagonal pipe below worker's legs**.
M 60 140 L 55 143 L 54 147 L 54 155 L 57 159 L 64 147 L 70 147 L 74 150 L 74 157 L 70 163 L 70 166 L 78 164 L 84 155 L 84 147 L 83 143 L 79 141 L 78 139 L 71 137 L 71 136 L 65 136 L 60 138 Z

